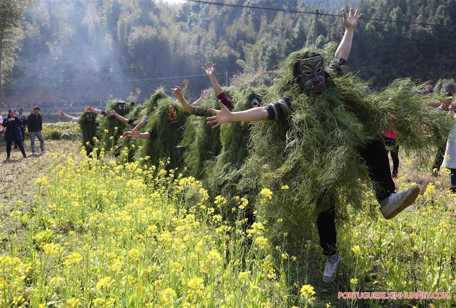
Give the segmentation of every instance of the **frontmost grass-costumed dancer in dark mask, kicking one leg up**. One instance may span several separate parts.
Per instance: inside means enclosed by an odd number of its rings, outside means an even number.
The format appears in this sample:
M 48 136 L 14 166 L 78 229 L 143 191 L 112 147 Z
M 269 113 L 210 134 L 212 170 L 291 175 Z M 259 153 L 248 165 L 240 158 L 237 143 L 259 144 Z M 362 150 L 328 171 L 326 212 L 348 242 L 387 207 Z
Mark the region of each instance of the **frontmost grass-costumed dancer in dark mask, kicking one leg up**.
M 390 121 L 388 114 L 394 111 L 397 116 L 393 125 L 403 137 L 403 148 L 423 150 L 420 158 L 432 147 L 432 132 L 444 135 L 449 131 L 444 119 L 421 102 L 413 87 L 394 87 L 373 95 L 364 90 L 367 83 L 341 73 L 362 15 L 343 10 L 346 31 L 327 69 L 324 60 L 331 59 L 333 44 L 323 50 L 303 48 L 282 63 L 282 77 L 273 85 L 267 106 L 232 112 L 219 102 L 221 109 L 210 109 L 215 115 L 207 118 L 213 128 L 227 122 L 260 121 L 252 127 L 252 156 L 243 172 L 247 179 L 250 174 L 250 182 L 272 188 L 277 196 L 272 200 L 268 191 L 263 191 L 272 202 L 260 203 L 258 216 L 268 220 L 270 232 L 280 233 L 283 239 L 285 233 L 288 237 L 305 236 L 302 226 L 315 215 L 327 257 L 325 282 L 335 279 L 340 261 L 336 214 L 346 218 L 348 205 L 370 212 L 370 189 L 366 186 L 373 186 L 386 219 L 419 195 L 418 186 L 395 193 L 380 136 Z M 275 119 L 279 121 L 265 121 Z M 368 178 L 371 181 L 366 181 Z

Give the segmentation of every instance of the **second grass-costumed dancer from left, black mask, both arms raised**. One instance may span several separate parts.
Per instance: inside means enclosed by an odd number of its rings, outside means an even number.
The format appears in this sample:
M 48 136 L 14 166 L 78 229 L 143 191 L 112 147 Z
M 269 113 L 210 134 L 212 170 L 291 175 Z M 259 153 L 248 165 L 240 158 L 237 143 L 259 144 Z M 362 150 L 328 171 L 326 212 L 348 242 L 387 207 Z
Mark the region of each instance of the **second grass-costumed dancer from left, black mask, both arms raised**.
M 106 110 L 112 109 L 116 111 L 117 114 L 124 117 L 135 105 L 139 94 L 141 94 L 141 90 L 136 89 L 135 96 L 131 100 L 130 104 L 127 104 L 125 101 L 120 99 L 109 100 L 106 105 Z M 100 136 L 100 144 L 105 147 L 106 150 L 112 150 L 114 156 L 119 156 L 120 150 L 117 142 L 125 130 L 126 124 L 118 120 L 116 117 L 109 116 L 105 110 L 95 109 L 92 108 L 92 106 L 84 106 L 84 110 L 104 115 L 104 117 L 98 118 L 98 134 Z

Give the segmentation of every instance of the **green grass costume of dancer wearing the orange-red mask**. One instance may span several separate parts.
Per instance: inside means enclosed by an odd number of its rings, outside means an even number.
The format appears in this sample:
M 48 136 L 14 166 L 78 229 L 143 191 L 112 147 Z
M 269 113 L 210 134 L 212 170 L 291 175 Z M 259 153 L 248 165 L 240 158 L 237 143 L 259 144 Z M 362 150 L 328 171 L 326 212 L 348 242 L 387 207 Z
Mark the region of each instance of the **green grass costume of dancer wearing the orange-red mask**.
M 170 123 L 169 108 L 174 108 L 176 123 Z M 166 161 L 169 158 L 168 168 L 180 167 L 184 152 L 180 143 L 187 120 L 188 114 L 177 101 L 169 97 L 159 100 L 157 109 L 150 114 L 149 122 L 144 127 L 144 132 L 151 132 L 150 139 L 144 140 L 142 147 L 136 152 L 135 159 L 148 157 L 150 164 L 158 165 L 160 160 Z

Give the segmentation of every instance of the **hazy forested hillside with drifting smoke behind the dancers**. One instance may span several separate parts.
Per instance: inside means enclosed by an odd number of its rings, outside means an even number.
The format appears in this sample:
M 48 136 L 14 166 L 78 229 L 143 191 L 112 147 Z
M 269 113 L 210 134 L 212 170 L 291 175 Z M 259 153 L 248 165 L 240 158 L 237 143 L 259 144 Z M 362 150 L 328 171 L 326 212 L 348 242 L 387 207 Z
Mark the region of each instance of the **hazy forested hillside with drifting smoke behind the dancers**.
M 223 1 L 332 14 L 353 6 L 365 18 L 441 24 L 365 19 L 347 64 L 379 87 L 406 76 L 433 82 L 454 77 L 454 0 L 217 0 Z M 316 44 L 339 41 L 341 20 L 320 15 Z M 10 102 L 126 98 L 134 87 L 148 95 L 183 79 L 168 77 L 202 74 L 206 60 L 229 76 L 269 73 L 290 52 L 312 44 L 314 15 L 190 2 L 36 1 L 22 25 L 22 50 L 4 84 Z M 224 84 L 223 74 L 220 81 Z M 191 86 L 196 94 L 209 84 L 195 76 Z

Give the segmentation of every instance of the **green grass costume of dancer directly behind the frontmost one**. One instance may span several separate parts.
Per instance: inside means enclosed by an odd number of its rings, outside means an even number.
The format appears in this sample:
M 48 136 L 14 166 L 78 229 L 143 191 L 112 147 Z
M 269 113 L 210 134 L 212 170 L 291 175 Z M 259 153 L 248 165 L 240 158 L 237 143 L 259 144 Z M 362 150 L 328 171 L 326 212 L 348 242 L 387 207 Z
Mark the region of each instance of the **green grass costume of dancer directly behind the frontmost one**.
M 265 87 L 247 88 L 233 97 L 234 111 L 258 107 L 267 96 Z M 238 190 L 242 177 L 241 167 L 249 155 L 250 123 L 231 122 L 220 126 L 221 150 L 208 172 L 209 191 L 213 197 L 221 195 L 229 200 L 232 197 L 245 197 L 247 191 Z M 231 209 L 232 202 L 227 204 Z

